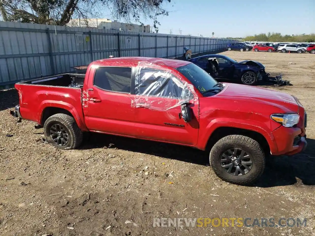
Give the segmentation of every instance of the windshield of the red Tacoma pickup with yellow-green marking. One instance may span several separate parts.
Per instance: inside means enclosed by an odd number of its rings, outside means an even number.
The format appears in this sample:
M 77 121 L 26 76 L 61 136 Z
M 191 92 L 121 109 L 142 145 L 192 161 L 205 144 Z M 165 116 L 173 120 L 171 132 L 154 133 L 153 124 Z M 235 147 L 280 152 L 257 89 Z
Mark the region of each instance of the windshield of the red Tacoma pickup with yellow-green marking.
M 180 73 L 182 73 L 196 88 L 198 88 L 200 93 L 207 93 L 208 90 L 212 93 L 218 93 L 221 91 L 220 86 L 217 86 L 218 82 L 212 78 L 206 71 L 201 69 L 198 65 L 193 63 L 184 65 L 181 67 L 176 68 Z

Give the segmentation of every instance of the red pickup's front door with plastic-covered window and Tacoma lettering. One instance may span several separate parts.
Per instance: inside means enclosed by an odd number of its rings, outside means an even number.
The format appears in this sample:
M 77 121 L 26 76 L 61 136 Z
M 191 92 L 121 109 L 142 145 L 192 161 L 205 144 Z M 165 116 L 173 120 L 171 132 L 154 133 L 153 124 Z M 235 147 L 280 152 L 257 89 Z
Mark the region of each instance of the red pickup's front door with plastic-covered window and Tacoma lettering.
M 137 68 L 135 76 L 135 126 L 139 138 L 195 145 L 198 140 L 198 97 L 191 84 L 170 71 Z M 181 105 L 192 109 L 185 122 Z

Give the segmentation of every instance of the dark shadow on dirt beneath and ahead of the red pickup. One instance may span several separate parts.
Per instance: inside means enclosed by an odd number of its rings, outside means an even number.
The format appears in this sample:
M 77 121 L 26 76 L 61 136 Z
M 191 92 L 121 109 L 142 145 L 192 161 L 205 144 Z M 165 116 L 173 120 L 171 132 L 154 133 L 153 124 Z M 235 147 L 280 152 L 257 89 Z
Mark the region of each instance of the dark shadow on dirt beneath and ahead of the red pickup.
M 308 147 L 303 153 L 294 156 L 267 157 L 266 170 L 255 186 L 263 188 L 292 184 L 315 186 L 315 139 L 307 138 L 307 142 Z M 113 145 L 109 145 L 110 143 Z M 82 149 L 93 149 L 104 146 L 198 165 L 209 165 L 209 155 L 204 151 L 174 144 L 122 138 L 98 133 L 87 134 Z

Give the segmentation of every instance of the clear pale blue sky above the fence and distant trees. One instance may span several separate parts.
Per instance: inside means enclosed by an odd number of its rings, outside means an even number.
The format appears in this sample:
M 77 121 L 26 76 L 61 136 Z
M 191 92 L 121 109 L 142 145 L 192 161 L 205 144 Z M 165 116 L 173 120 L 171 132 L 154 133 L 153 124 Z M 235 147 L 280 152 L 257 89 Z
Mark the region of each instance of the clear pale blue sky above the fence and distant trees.
M 278 32 L 315 33 L 315 0 L 172 0 L 159 17 L 159 33 L 204 37 L 246 37 Z M 153 25 L 152 20 L 146 24 Z

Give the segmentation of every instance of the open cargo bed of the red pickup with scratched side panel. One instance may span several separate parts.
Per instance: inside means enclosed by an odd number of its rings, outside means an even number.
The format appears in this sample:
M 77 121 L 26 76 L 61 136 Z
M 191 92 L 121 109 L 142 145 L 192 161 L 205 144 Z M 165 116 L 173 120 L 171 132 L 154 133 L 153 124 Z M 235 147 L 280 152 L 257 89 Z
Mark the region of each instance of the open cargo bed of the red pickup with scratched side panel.
M 72 113 L 76 117 L 77 124 L 84 127 L 82 111 L 84 77 L 85 75 L 62 74 L 16 83 L 20 115 L 25 120 L 43 125 L 50 112 L 63 109 Z

